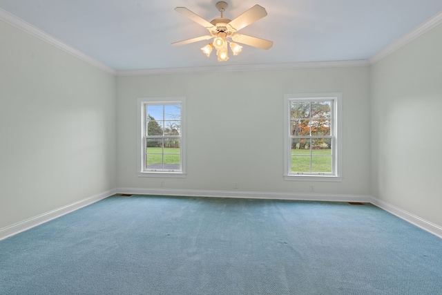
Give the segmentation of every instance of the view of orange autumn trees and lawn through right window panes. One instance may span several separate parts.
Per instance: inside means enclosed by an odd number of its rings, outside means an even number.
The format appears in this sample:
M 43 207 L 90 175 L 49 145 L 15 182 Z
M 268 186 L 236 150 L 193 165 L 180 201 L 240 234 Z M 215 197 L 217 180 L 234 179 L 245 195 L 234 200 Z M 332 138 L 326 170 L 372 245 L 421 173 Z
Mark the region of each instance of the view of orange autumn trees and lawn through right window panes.
M 291 172 L 332 173 L 333 101 L 291 101 Z

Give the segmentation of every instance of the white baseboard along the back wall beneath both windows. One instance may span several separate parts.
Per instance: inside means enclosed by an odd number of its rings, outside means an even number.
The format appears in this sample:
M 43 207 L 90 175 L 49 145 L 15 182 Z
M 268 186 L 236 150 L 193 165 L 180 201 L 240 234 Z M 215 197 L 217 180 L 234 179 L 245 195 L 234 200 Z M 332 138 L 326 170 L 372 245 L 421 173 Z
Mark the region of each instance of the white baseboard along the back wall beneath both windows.
M 139 187 L 119 187 L 117 193 L 156 196 L 189 196 L 215 198 L 253 198 L 275 200 L 306 200 L 333 202 L 370 202 L 371 196 L 334 195 L 320 193 L 271 193 L 262 191 L 210 191 L 198 189 L 147 189 Z

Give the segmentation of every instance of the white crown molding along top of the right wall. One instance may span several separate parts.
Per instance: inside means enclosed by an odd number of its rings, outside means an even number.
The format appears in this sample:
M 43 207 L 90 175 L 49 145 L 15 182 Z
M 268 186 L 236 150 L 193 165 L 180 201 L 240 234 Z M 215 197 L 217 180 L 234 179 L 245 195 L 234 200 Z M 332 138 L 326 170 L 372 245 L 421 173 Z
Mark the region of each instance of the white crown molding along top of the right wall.
M 440 23 L 442 23 L 442 11 L 434 15 L 434 17 L 428 19 L 421 25 L 417 26 L 413 30 L 407 33 L 407 35 L 399 38 L 398 40 L 394 41 L 389 46 L 383 48 L 381 51 L 376 53 L 376 55 L 373 55 L 368 59 L 369 64 L 375 64 L 376 62 L 380 61 L 381 59 L 387 57 L 387 55 L 390 55 L 394 53 L 396 50 L 404 46 L 405 44 L 408 44 L 410 41 L 413 41 L 417 37 L 423 35 L 425 32 L 431 30 L 435 26 L 438 26 Z

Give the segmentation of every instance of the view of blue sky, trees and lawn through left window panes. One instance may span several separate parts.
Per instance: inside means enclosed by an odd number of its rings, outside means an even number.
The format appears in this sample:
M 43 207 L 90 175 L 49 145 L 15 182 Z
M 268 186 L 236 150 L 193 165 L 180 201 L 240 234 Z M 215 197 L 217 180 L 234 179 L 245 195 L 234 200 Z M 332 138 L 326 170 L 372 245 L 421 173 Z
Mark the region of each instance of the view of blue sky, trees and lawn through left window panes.
M 146 169 L 181 168 L 181 105 L 146 104 Z

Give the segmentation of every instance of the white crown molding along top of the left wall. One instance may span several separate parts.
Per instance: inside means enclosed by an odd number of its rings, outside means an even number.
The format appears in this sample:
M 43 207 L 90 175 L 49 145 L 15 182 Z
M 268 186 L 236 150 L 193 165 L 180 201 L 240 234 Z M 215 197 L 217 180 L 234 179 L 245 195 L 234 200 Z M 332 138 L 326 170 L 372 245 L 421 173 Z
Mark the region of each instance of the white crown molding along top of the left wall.
M 49 35 L 47 32 L 44 32 L 43 30 L 40 30 L 39 28 L 32 26 L 30 23 L 23 21 L 23 19 L 20 19 L 19 17 L 10 14 L 10 12 L 7 12 L 2 8 L 0 8 L 0 20 L 9 23 L 11 26 L 14 26 L 15 28 L 19 28 L 20 30 L 27 32 L 28 34 L 34 37 L 46 41 L 48 44 L 51 44 L 52 46 L 64 50 L 66 51 L 66 53 L 78 57 L 79 59 L 86 61 L 88 64 L 91 64 L 92 66 L 95 66 L 100 70 L 104 70 L 105 72 L 112 75 L 117 74 L 117 71 L 114 70 L 113 68 L 106 66 L 106 64 L 103 64 L 102 62 L 97 61 L 96 59 L 93 59 L 92 57 L 82 53 L 81 51 L 73 48 L 72 46 L 69 46 L 68 44 L 60 41 L 59 39 L 53 37 L 52 35 Z

